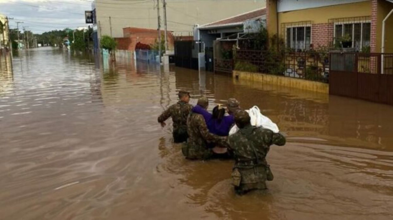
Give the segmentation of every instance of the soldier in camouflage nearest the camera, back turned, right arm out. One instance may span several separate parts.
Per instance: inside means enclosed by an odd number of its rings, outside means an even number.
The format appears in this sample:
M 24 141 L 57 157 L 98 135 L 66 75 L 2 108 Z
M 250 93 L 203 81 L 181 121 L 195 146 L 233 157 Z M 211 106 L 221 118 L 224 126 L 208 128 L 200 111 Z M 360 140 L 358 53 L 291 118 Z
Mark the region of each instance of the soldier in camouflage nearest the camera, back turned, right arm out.
M 238 194 L 252 189 L 266 189 L 266 180 L 273 180 L 273 174 L 266 162 L 266 155 L 272 144 L 283 146 L 285 137 L 269 129 L 251 126 L 246 111 L 235 113 L 238 132 L 228 137 L 230 148 L 235 155 L 232 184 Z

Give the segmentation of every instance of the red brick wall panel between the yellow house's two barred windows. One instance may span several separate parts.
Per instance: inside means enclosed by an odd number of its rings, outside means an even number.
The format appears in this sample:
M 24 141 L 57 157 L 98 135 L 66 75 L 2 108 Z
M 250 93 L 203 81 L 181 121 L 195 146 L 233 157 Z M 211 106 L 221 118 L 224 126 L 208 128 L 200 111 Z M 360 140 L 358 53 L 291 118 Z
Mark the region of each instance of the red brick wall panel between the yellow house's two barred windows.
M 328 46 L 333 39 L 333 24 L 317 23 L 311 25 L 311 43 L 314 48 Z

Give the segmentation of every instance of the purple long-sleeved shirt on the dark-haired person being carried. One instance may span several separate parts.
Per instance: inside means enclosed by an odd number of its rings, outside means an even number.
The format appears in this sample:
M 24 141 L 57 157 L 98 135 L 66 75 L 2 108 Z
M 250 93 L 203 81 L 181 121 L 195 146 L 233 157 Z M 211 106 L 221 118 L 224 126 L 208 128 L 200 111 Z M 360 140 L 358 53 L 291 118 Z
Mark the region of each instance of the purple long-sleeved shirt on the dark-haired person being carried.
M 213 119 L 213 115 L 210 112 L 199 105 L 196 105 L 192 111 L 204 117 L 209 132 L 215 135 L 228 136 L 229 130 L 235 123 L 233 115 L 224 116 L 221 121 L 218 121 L 217 119 Z

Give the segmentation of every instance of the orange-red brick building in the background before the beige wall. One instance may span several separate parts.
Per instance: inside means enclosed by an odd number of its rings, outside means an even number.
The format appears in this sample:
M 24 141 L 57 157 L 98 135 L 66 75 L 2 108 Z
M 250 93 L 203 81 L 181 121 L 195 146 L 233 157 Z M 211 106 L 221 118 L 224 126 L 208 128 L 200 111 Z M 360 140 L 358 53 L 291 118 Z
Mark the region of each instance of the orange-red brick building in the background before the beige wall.
M 164 36 L 164 31 L 161 31 Z M 173 50 L 173 35 L 171 31 L 167 32 L 169 50 Z M 125 27 L 123 28 L 123 37 L 115 38 L 118 42 L 118 50 L 135 50 L 137 43 L 145 45 L 152 45 L 158 40 L 158 31 L 156 29 L 146 29 L 138 27 Z

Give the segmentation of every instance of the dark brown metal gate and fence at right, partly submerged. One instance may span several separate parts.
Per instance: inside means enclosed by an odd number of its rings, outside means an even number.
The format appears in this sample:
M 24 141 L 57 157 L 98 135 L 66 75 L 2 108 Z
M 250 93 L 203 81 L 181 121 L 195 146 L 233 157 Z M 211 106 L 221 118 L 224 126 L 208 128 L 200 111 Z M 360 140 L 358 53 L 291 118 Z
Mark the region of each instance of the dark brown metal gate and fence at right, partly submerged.
M 329 93 L 393 105 L 393 54 L 331 53 Z

